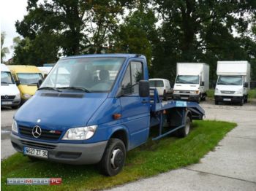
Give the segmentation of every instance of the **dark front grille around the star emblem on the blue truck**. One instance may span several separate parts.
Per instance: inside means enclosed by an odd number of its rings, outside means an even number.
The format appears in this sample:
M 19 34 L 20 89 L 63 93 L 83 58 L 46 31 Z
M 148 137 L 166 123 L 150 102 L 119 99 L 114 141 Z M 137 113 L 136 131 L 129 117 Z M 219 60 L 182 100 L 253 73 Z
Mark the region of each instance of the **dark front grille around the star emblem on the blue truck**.
M 19 126 L 20 134 L 23 136 L 27 136 L 29 138 L 34 138 L 34 136 L 32 134 L 32 129 L 33 128 Z M 50 130 L 42 129 L 41 136 L 39 136 L 39 138 L 37 138 L 37 139 L 56 141 L 59 139 L 60 136 L 61 136 L 61 133 L 60 134 L 50 133 Z

